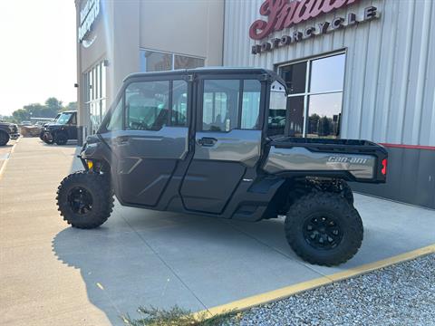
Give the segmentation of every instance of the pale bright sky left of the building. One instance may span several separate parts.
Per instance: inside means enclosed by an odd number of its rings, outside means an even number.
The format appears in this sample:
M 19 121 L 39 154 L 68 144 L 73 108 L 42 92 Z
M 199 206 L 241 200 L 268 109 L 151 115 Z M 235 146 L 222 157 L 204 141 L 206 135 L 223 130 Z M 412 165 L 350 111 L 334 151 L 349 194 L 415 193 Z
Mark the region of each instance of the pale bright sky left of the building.
M 0 115 L 77 100 L 73 0 L 0 0 Z

